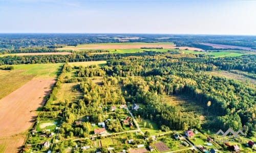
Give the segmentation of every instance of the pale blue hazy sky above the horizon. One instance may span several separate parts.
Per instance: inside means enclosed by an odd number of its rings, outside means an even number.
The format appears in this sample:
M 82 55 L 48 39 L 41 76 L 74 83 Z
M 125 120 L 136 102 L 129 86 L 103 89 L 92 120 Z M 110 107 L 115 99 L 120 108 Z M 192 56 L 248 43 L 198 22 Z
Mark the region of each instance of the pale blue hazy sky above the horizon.
M 256 35 L 256 0 L 0 0 L 0 33 Z

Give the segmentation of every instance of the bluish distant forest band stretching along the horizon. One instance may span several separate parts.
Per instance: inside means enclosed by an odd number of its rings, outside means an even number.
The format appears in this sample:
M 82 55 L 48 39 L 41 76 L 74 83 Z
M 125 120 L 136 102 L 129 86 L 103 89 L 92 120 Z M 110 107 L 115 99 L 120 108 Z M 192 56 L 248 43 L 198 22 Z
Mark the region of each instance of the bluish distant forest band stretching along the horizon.
M 128 39 L 136 38 L 136 39 Z M 0 34 L 0 50 L 20 47 L 54 48 L 56 45 L 78 45 L 108 42 L 174 42 L 177 46 L 218 50 L 200 43 L 236 45 L 256 49 L 256 36 L 167 35 L 167 34 Z

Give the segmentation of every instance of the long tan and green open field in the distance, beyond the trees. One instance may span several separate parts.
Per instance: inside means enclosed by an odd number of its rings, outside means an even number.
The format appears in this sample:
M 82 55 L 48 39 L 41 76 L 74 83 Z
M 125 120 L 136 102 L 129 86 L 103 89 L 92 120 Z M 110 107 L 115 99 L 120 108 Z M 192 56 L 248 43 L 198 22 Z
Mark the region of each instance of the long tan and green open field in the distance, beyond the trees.
M 66 46 L 63 48 L 57 48 L 57 50 L 81 50 L 81 49 L 140 49 L 141 47 L 147 48 L 156 48 L 162 47 L 165 49 L 189 49 L 189 50 L 198 50 L 201 51 L 203 49 L 195 48 L 195 47 L 176 47 L 176 45 L 172 42 L 158 42 L 158 43 L 145 43 L 145 42 L 124 42 L 124 43 L 95 43 L 95 44 L 80 44 L 77 46 Z

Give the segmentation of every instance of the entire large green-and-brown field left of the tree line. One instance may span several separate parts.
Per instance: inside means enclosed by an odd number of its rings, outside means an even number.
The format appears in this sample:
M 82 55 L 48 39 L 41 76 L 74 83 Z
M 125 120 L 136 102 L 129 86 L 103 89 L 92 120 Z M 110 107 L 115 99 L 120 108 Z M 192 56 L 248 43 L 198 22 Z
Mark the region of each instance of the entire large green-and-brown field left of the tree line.
M 16 152 L 23 144 L 24 138 L 13 135 L 32 125 L 61 65 L 13 65 L 14 70 L 0 70 L 0 152 Z

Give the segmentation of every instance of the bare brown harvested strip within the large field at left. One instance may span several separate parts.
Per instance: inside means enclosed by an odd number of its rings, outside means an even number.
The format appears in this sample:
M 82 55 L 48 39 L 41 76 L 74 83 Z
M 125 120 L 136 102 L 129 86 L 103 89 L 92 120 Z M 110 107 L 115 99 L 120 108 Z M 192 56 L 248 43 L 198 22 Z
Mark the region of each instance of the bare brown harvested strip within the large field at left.
M 19 134 L 34 122 L 54 79 L 33 79 L 0 100 L 0 137 Z

